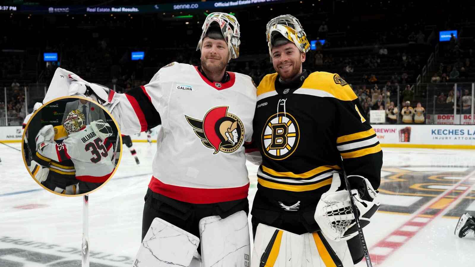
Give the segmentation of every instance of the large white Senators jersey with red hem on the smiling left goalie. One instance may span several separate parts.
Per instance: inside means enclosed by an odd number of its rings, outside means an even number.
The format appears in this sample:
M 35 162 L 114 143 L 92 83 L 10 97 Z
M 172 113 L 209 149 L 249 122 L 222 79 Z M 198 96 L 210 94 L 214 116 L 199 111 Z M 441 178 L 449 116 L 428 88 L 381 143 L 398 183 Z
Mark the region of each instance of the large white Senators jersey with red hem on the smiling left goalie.
M 122 134 L 161 124 L 149 184 L 155 193 L 189 203 L 247 197 L 244 144 L 257 89 L 247 75 L 227 72 L 225 79 L 210 82 L 199 67 L 173 62 L 145 86 L 110 93 L 120 99 L 112 115 Z

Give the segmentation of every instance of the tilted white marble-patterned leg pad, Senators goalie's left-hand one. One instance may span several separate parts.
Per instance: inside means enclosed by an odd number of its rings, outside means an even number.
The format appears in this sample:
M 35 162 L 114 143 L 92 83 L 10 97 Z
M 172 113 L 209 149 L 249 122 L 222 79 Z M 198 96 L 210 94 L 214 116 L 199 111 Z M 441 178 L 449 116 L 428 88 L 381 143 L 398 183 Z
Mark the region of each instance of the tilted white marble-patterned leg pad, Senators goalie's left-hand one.
M 133 267 L 190 266 L 198 244 L 198 237 L 155 218 L 143 238 Z

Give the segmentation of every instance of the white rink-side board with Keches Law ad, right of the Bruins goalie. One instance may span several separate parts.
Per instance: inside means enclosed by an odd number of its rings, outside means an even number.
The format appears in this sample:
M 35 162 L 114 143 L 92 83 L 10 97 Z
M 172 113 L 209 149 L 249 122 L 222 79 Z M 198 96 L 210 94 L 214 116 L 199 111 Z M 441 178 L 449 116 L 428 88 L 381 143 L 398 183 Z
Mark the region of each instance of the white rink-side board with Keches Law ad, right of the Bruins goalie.
M 372 125 L 381 144 L 475 145 L 475 125 Z

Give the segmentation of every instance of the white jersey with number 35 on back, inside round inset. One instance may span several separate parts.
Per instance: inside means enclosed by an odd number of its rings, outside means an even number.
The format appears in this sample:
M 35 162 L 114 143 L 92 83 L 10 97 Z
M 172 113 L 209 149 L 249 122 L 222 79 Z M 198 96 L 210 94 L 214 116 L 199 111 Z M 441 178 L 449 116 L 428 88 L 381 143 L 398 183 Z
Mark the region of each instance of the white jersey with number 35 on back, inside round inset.
M 76 179 L 102 183 L 114 171 L 111 162 L 112 143 L 97 136 L 91 125 L 69 134 L 62 143 L 45 141 L 38 145 L 38 153 L 47 159 L 62 162 L 71 159 L 76 169 Z

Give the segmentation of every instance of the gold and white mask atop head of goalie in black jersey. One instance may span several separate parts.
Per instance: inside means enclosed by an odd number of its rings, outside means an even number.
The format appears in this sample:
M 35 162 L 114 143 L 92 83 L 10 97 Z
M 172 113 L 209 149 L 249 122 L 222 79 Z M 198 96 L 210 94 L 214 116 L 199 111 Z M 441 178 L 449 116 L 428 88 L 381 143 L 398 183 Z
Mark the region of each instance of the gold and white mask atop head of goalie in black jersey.
M 300 21 L 292 15 L 281 15 L 271 19 L 266 26 L 267 45 L 271 57 L 273 37 L 278 34 L 293 42 L 300 51 L 306 53 L 310 50 L 310 43 Z

